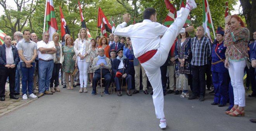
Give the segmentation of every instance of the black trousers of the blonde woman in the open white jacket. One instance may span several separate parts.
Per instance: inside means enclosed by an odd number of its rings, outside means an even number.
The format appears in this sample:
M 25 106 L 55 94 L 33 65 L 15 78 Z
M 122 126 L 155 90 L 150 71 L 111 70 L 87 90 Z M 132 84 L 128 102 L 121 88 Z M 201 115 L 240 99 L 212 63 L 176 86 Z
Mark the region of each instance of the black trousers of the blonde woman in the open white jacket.
M 57 87 L 59 85 L 59 71 L 61 69 L 61 64 L 55 64 L 54 63 L 54 68 L 52 70 L 52 78 L 50 80 L 50 87 Z

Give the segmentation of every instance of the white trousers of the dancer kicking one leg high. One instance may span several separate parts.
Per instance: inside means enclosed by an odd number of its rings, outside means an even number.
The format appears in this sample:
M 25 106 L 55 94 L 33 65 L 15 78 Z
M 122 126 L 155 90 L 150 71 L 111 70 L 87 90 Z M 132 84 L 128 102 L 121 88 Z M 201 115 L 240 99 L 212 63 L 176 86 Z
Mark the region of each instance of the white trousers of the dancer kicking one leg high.
M 181 8 L 180 15 L 176 18 L 175 22 L 168 27 L 161 38 L 156 54 L 151 59 L 141 64 L 146 71 L 151 86 L 153 87 L 154 94 L 152 97 L 155 106 L 156 118 L 158 119 L 165 118 L 160 66 L 162 66 L 166 61 L 171 46 L 185 24 L 189 12 L 189 9 Z

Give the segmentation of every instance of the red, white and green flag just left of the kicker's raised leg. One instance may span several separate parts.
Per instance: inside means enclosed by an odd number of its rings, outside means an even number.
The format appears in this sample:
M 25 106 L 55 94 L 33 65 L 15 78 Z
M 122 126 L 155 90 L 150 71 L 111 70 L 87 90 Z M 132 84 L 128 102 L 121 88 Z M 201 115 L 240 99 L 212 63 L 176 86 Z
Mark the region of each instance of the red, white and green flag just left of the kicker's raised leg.
M 175 21 L 176 17 L 177 17 L 177 14 L 176 14 L 176 8 L 168 1 L 168 0 L 165 0 L 165 5 L 166 5 L 166 8 L 169 11 L 168 15 L 166 16 L 164 22 L 163 22 L 163 25 L 167 26 L 167 27 L 170 27 L 171 24 L 173 24 L 173 22 Z

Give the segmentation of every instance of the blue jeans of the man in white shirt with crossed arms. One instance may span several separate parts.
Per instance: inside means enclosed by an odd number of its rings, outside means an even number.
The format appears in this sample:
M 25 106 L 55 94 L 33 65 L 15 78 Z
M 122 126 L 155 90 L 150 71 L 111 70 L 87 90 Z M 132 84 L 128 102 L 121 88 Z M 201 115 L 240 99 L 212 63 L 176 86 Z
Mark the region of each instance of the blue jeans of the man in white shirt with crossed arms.
M 53 60 L 43 61 L 39 60 L 39 93 L 43 93 L 49 90 L 50 79 L 52 78 L 52 70 L 54 66 Z

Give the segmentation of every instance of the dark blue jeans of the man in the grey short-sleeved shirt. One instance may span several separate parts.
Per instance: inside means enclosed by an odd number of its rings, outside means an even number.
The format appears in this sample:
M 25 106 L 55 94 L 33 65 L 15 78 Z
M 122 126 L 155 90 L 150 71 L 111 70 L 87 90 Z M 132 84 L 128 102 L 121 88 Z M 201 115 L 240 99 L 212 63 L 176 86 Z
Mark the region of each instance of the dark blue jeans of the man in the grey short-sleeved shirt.
M 34 74 L 34 71 L 35 71 L 35 62 L 31 63 L 31 65 L 33 67 L 30 67 L 30 68 L 27 68 L 27 67 L 22 67 L 22 63 L 25 63 L 25 62 L 21 62 L 21 71 L 22 71 L 22 81 L 21 81 L 21 84 L 22 84 L 22 96 L 24 94 L 27 94 L 27 88 L 28 88 L 28 94 L 32 94 L 32 91 L 33 91 L 33 74 Z

